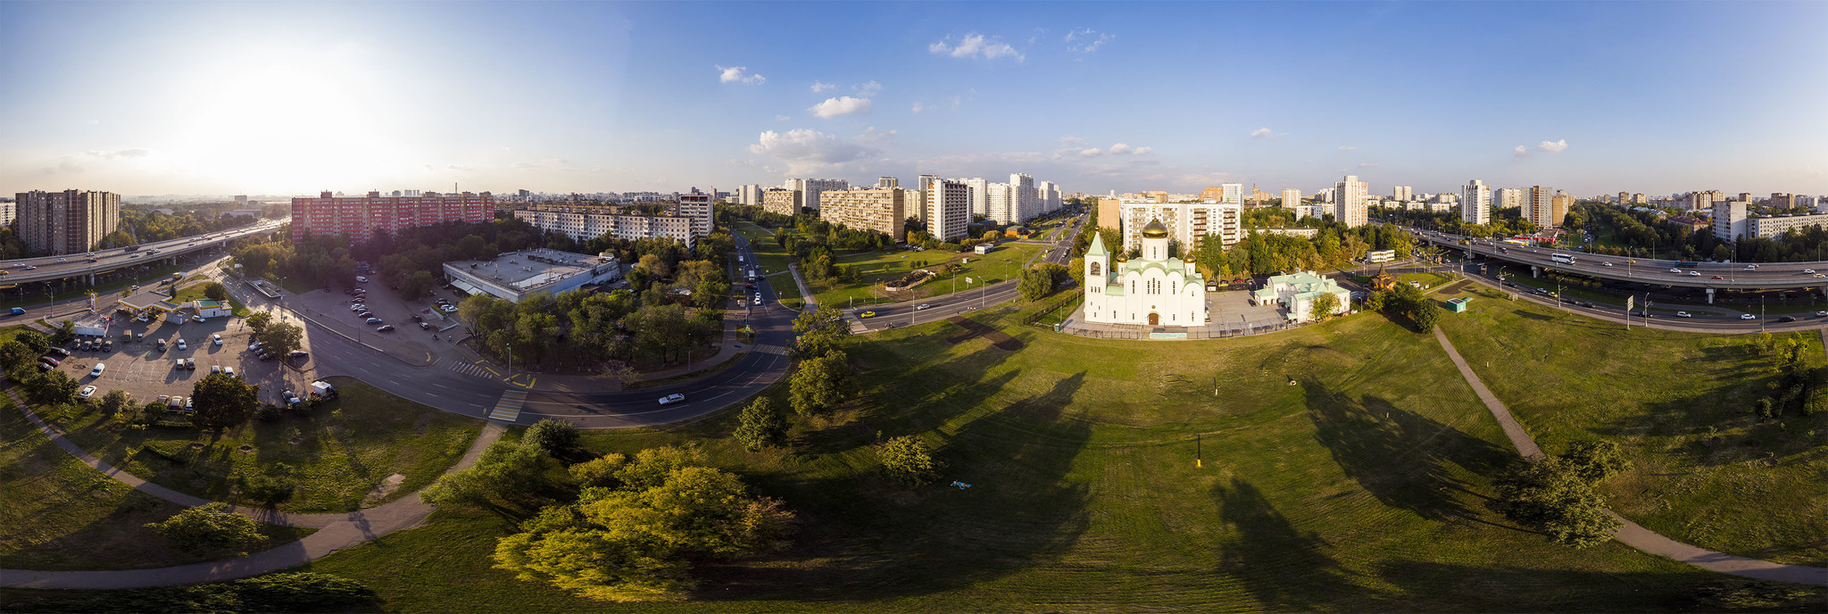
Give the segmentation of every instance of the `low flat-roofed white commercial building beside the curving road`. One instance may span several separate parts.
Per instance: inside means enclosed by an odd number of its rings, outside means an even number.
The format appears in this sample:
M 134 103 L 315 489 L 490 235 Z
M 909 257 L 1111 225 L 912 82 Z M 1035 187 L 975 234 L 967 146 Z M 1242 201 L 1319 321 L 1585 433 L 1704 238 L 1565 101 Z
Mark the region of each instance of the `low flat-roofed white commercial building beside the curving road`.
M 558 296 L 590 283 L 620 280 L 622 263 L 609 256 L 536 249 L 492 259 L 448 261 L 444 278 L 470 294 L 494 294 L 517 302 L 534 292 Z

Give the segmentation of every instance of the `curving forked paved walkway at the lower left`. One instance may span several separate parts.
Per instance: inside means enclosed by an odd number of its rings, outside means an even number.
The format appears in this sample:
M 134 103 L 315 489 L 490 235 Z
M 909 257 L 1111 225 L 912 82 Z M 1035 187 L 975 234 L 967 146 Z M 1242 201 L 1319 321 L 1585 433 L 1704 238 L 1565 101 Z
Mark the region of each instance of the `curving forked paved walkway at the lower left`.
M 11 389 L 7 391 L 11 397 Z M 69 455 L 77 457 L 84 464 L 102 471 L 104 475 L 133 486 L 133 490 L 144 492 L 148 495 L 177 503 L 183 506 L 199 506 L 210 501 L 192 497 L 186 493 L 174 492 L 170 488 L 146 482 L 132 473 L 121 471 L 115 466 L 101 462 L 95 455 L 77 448 L 68 439 L 62 437 L 55 428 L 44 424 L 29 408 L 18 404 L 18 409 L 31 418 L 38 429 L 51 439 L 53 444 L 64 448 Z M 483 450 L 501 439 L 505 426 L 501 422 L 486 422 L 483 433 L 475 437 L 470 450 L 464 451 L 462 459 L 450 468 L 450 471 L 466 470 L 483 457 Z M 431 515 L 431 506 L 420 503 L 417 495 L 406 495 L 395 499 L 393 503 L 349 512 L 349 513 L 280 513 L 265 510 L 232 508 L 236 513 L 258 519 L 271 524 L 285 526 L 311 526 L 318 528 L 314 534 L 305 535 L 305 539 L 282 545 L 271 550 L 254 552 L 245 557 L 207 561 L 177 566 L 161 568 L 141 568 L 141 570 L 106 570 L 106 572 L 38 572 L 38 570 L 0 570 L 0 587 L 9 588 L 143 588 L 143 587 L 172 587 L 172 585 L 196 585 L 208 581 L 225 581 L 252 577 L 260 574 L 271 574 L 300 566 L 316 559 L 329 556 L 331 552 L 358 546 L 375 537 L 411 528 Z

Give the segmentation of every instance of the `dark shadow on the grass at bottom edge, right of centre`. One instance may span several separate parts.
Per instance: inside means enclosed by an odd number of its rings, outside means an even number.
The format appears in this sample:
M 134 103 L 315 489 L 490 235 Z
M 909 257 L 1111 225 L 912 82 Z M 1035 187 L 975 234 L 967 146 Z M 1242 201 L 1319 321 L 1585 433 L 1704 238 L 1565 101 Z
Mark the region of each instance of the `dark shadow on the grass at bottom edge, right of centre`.
M 1367 592 L 1325 554 L 1325 539 L 1298 530 L 1256 484 L 1232 479 L 1212 486 L 1212 497 L 1219 519 L 1238 534 L 1219 550 L 1217 570 L 1236 577 L 1263 609 L 1323 610 Z

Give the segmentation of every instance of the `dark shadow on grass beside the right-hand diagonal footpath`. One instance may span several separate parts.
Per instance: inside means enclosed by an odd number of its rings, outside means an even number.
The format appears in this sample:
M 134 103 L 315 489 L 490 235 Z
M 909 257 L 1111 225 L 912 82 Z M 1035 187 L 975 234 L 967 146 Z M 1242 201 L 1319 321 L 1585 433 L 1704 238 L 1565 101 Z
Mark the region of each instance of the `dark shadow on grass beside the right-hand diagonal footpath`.
M 1457 464 L 1493 475 L 1515 455 L 1477 437 L 1397 408 L 1378 397 L 1355 400 L 1323 384 L 1302 382 L 1314 439 L 1378 503 L 1429 521 L 1479 519 L 1462 495 L 1477 495 L 1451 475 Z

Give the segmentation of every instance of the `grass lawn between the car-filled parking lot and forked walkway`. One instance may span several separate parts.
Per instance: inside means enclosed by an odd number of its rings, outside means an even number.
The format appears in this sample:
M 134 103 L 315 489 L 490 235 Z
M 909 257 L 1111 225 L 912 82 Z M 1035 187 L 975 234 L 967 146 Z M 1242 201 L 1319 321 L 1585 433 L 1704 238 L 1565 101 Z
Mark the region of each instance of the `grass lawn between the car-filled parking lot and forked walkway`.
M 311 417 L 254 420 L 221 439 L 196 429 L 119 428 L 99 413 L 46 418 L 58 422 L 77 446 L 128 473 L 212 501 L 245 504 L 234 490 L 234 475 L 285 462 L 298 481 L 292 501 L 280 504 L 285 512 L 351 512 L 399 499 L 444 473 L 481 431 L 475 418 L 431 409 L 356 380 L 331 382 L 342 397 Z M 185 462 L 161 459 L 143 446 Z M 393 473 L 404 475 L 404 482 L 384 497 L 369 497 Z

